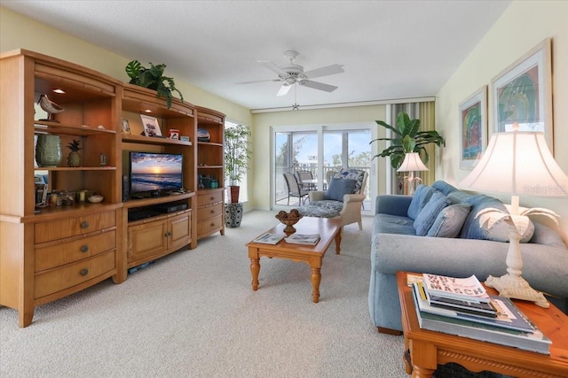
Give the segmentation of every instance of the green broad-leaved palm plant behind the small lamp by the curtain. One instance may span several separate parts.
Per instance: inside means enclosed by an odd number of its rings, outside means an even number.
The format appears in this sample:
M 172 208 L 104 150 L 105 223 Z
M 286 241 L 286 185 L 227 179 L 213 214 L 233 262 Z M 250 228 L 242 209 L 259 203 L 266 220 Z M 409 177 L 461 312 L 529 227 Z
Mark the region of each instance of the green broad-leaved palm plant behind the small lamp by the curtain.
M 373 158 L 386 158 L 390 157 L 390 165 L 394 169 L 398 169 L 405 159 L 407 152 L 423 152 L 424 163 L 428 164 L 429 156 L 425 146 L 430 143 L 435 143 L 438 147 L 441 145 L 446 146 L 444 138 L 438 134 L 438 131 L 419 131 L 420 120 L 410 120 L 406 112 L 399 112 L 397 115 L 397 125 L 392 127 L 383 120 L 375 121 L 377 125 L 389 129 L 393 136 L 390 138 L 377 138 L 371 141 L 390 141 L 390 146 L 384 149 L 380 154 L 375 155 Z

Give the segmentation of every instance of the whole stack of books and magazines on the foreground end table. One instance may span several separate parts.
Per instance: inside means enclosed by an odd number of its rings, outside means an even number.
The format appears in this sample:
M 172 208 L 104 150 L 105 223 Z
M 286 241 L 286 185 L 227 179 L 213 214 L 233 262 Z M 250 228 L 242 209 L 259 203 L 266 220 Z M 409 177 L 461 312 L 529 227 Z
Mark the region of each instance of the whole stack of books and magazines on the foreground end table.
M 549 354 L 548 337 L 509 298 L 489 295 L 475 275 L 423 274 L 412 287 L 421 328 Z

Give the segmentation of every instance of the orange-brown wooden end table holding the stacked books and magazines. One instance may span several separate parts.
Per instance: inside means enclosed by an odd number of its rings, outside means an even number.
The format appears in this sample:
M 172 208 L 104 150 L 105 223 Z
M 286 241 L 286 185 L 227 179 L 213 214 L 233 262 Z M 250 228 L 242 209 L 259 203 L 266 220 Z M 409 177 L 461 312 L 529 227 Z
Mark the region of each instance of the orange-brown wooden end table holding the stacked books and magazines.
M 550 355 L 546 355 L 421 329 L 412 289 L 406 284 L 406 272 L 398 272 L 397 283 L 405 351 L 410 353 L 410 361 L 405 358 L 407 374 L 430 377 L 438 364 L 455 362 L 472 372 L 488 370 L 519 377 L 568 376 L 568 316 L 554 305 L 541 308 L 514 300 L 515 305 L 552 341 Z M 494 289 L 487 291 L 497 294 Z

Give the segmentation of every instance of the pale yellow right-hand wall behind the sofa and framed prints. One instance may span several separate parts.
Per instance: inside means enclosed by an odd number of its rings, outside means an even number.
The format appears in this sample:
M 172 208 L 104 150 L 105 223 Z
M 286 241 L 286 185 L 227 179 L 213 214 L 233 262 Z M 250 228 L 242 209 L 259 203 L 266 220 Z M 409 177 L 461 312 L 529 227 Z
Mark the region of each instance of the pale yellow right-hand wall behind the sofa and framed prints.
M 555 158 L 568 173 L 568 2 L 514 1 L 503 12 L 469 57 L 440 89 L 436 99 L 438 131 L 446 137 L 446 148 L 438 150 L 438 180 L 461 181 L 469 171 L 460 169 L 459 104 L 482 85 L 489 86 L 489 108 L 492 104 L 491 80 L 517 58 L 525 55 L 547 37 L 552 38 L 553 112 Z M 493 126 L 489 113 L 489 133 Z M 489 134 L 490 136 L 490 134 Z M 510 197 L 501 196 L 509 203 Z M 561 215 L 560 223 L 568 235 L 568 200 L 521 197 L 521 205 L 545 207 Z

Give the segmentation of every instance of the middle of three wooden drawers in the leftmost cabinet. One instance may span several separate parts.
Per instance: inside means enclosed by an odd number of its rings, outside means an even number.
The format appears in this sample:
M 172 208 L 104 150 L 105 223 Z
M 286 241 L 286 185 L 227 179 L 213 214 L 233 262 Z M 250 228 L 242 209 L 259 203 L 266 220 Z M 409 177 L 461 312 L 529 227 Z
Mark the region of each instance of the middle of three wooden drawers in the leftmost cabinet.
M 62 266 L 83 258 L 91 258 L 116 247 L 116 231 L 99 235 L 77 236 L 72 242 L 36 248 L 34 264 L 36 273 L 56 266 Z

